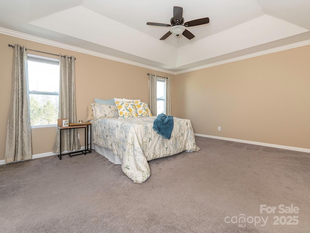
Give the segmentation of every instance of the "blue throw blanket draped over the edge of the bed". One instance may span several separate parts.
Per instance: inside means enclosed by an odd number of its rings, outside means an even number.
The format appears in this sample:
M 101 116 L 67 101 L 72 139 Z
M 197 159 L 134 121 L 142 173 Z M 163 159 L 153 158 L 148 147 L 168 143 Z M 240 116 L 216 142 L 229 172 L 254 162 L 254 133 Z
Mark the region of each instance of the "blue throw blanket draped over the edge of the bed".
M 153 130 L 162 135 L 166 139 L 170 139 L 173 129 L 173 116 L 159 114 L 154 120 Z

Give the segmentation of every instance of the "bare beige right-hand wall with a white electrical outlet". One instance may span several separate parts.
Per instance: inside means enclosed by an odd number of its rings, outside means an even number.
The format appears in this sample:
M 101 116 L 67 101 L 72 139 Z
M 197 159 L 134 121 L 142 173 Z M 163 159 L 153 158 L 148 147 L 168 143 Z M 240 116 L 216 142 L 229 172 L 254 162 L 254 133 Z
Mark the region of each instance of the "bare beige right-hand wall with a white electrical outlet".
M 174 88 L 195 133 L 310 149 L 310 46 L 179 74 Z

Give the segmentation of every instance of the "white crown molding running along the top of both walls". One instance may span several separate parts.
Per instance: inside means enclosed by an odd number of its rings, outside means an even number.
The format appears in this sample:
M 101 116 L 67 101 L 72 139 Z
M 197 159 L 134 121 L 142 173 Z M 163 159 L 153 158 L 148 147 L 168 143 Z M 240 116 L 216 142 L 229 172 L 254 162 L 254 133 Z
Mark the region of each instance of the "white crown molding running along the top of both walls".
M 123 59 L 123 58 L 114 57 L 114 56 L 110 56 L 110 55 L 107 55 L 107 54 L 104 54 L 104 53 L 100 53 L 100 52 L 95 52 L 95 51 L 91 51 L 91 50 L 86 50 L 86 49 L 78 48 L 78 47 L 75 47 L 75 46 L 71 46 L 71 45 L 60 43 L 60 42 L 44 39 L 44 38 L 41 38 L 41 37 L 29 35 L 29 34 L 26 34 L 26 33 L 16 32 L 16 31 L 5 29 L 5 28 L 1 28 L 1 27 L 0 27 L 0 33 L 6 34 L 6 35 L 10 35 L 10 36 L 14 36 L 14 37 L 18 37 L 18 38 L 21 38 L 21 39 L 26 39 L 26 40 L 38 42 L 38 43 L 41 43 L 41 44 L 55 46 L 55 47 L 62 48 L 62 49 L 65 49 L 65 50 L 72 50 L 72 51 L 76 51 L 76 52 L 80 52 L 80 53 L 84 53 L 84 54 L 88 54 L 88 55 L 92 55 L 92 56 L 96 56 L 96 57 L 101 57 L 101 58 L 109 59 L 109 60 L 116 61 L 116 62 L 121 62 L 121 63 L 129 64 L 129 65 L 133 65 L 133 66 L 137 66 L 137 67 L 143 67 L 143 68 L 146 68 L 146 69 L 151 69 L 151 70 L 155 70 L 155 71 L 159 71 L 159 72 L 164 72 L 164 73 L 168 73 L 168 74 L 172 74 L 172 75 L 183 74 L 183 73 L 187 73 L 187 72 L 190 72 L 190 71 L 205 69 L 205 68 L 208 68 L 208 67 L 215 67 L 215 66 L 219 66 L 219 65 L 223 65 L 223 64 L 227 64 L 227 63 L 231 63 L 231 62 L 245 60 L 245 59 L 248 59 L 248 58 L 262 56 L 262 55 L 269 54 L 269 53 L 274 53 L 274 52 L 279 52 L 279 51 L 283 51 L 283 50 L 289 50 L 289 49 L 294 49 L 294 48 L 301 47 L 301 46 L 310 45 L 310 40 L 305 40 L 305 41 L 301 41 L 301 42 L 297 42 L 297 43 L 293 43 L 293 44 L 289 44 L 289 45 L 285 45 L 285 46 L 280 46 L 280 47 L 277 47 L 277 48 L 274 48 L 274 49 L 270 49 L 270 50 L 263 50 L 263 51 L 260 51 L 260 52 L 254 52 L 254 53 L 250 53 L 248 55 L 239 56 L 239 57 L 235 57 L 235 58 L 224 60 L 224 61 L 220 61 L 220 62 L 210 63 L 210 64 L 207 64 L 207 65 L 204 65 L 204 66 L 200 66 L 200 67 L 193 67 L 193 68 L 184 69 L 184 70 L 181 70 L 181 71 L 175 71 L 174 72 L 174 71 L 171 71 L 171 70 L 144 65 L 144 64 L 141 64 L 141 63 L 138 63 L 138 62 L 129 61 L 129 60 L 126 60 L 126 59 Z

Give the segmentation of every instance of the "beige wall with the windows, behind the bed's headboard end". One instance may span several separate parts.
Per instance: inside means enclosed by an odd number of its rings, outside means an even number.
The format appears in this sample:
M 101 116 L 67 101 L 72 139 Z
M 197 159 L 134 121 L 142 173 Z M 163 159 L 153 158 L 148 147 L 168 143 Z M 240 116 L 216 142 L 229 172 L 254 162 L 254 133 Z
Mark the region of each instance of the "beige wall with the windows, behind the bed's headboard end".
M 0 111 L 0 160 L 3 160 L 5 156 L 6 124 L 11 96 L 13 49 L 8 47 L 8 44 L 20 44 L 32 50 L 76 56 L 78 119 L 86 120 L 87 106 L 93 102 L 94 98 L 111 99 L 116 97 L 140 99 L 148 102 L 147 73 L 150 72 L 171 77 L 172 105 L 174 105 L 174 75 L 0 34 L 0 95 L 2 100 L 2 111 Z M 173 111 L 174 108 L 172 108 L 172 113 Z M 83 135 L 82 130 L 80 132 L 81 145 L 84 145 Z M 32 129 L 32 154 L 52 151 L 55 136 L 56 127 Z

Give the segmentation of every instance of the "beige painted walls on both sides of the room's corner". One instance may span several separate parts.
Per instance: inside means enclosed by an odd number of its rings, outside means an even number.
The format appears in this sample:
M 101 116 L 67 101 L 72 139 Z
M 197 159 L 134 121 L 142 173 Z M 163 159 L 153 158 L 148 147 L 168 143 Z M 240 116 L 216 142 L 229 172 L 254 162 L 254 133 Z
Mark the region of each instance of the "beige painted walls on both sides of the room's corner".
M 86 119 L 94 98 L 148 102 L 147 73 L 153 72 L 171 77 L 172 115 L 190 119 L 195 133 L 310 149 L 310 46 L 174 76 L 0 34 L 0 160 L 11 95 L 8 44 L 15 43 L 77 57 L 78 119 Z M 50 152 L 56 128 L 32 129 L 31 136 L 33 154 Z

